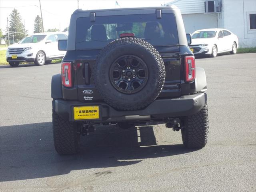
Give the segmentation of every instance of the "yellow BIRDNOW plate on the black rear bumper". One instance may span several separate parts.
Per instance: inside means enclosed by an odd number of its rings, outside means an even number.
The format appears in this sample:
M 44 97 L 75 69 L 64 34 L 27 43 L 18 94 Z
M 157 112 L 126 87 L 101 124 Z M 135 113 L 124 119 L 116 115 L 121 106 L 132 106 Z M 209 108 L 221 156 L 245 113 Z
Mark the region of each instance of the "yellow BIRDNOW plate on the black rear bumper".
M 99 114 L 99 106 L 74 107 L 74 120 L 98 119 Z

